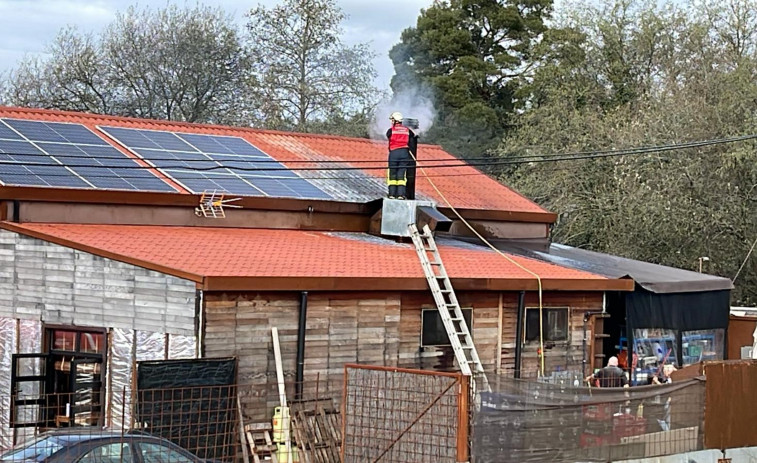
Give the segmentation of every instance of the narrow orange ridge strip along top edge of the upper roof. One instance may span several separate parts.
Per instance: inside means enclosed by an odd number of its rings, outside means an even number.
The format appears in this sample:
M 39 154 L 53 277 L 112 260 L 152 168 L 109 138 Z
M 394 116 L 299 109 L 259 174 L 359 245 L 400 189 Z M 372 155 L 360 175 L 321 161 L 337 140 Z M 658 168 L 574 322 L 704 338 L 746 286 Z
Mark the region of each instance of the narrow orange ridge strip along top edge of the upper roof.
M 118 121 L 118 122 L 123 122 L 123 123 L 140 122 L 140 123 L 153 124 L 153 125 L 158 125 L 158 126 L 187 127 L 187 128 L 192 128 L 192 129 L 203 128 L 203 129 L 208 129 L 208 130 L 223 130 L 223 131 L 238 130 L 241 132 L 263 134 L 263 135 L 267 134 L 267 135 L 296 136 L 296 137 L 304 137 L 304 138 L 325 138 L 325 139 L 331 139 L 331 140 L 350 140 L 350 141 L 372 142 L 372 143 L 385 142 L 384 140 L 374 140 L 372 138 L 361 138 L 361 137 L 348 137 L 345 135 L 289 132 L 285 130 L 242 127 L 238 125 L 208 124 L 208 123 L 200 123 L 200 122 L 172 121 L 172 120 L 166 120 L 166 119 L 147 119 L 147 118 L 140 118 L 140 117 L 114 116 L 111 114 L 90 113 L 86 111 L 70 111 L 70 110 L 63 110 L 63 109 L 46 109 L 46 108 L 24 108 L 20 106 L 0 105 L 0 117 L 6 117 L 6 116 L 1 115 L 2 113 L 6 111 L 19 112 L 19 113 L 59 115 L 59 116 L 101 119 L 101 120 L 112 120 L 112 121 Z M 172 130 L 172 131 L 175 131 L 175 130 Z M 426 146 L 426 147 L 437 147 L 439 149 L 442 149 L 441 145 L 438 145 L 438 144 L 420 143 L 420 145 Z

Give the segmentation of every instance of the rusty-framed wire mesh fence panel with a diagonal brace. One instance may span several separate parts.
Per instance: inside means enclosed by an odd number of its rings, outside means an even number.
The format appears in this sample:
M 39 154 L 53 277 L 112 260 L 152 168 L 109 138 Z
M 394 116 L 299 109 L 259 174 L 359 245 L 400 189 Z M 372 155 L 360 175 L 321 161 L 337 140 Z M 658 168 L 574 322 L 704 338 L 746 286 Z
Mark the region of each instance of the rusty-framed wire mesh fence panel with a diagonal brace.
M 460 374 L 345 367 L 344 462 L 454 462 L 467 450 Z M 467 384 L 467 383 L 466 383 Z M 462 426 L 467 428 L 467 426 Z

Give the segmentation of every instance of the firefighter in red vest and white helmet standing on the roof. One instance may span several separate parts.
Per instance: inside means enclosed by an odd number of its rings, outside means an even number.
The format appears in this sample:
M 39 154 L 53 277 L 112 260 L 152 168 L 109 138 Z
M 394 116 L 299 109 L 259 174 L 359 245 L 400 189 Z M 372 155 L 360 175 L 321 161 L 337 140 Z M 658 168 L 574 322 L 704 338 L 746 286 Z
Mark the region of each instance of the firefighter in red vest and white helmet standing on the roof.
M 388 196 L 390 199 L 407 199 L 408 169 L 415 165 L 415 153 L 411 155 L 410 150 L 411 147 L 417 146 L 417 136 L 409 127 L 402 125 L 401 113 L 393 112 L 389 120 L 392 127 L 386 131 L 386 137 L 389 139 Z

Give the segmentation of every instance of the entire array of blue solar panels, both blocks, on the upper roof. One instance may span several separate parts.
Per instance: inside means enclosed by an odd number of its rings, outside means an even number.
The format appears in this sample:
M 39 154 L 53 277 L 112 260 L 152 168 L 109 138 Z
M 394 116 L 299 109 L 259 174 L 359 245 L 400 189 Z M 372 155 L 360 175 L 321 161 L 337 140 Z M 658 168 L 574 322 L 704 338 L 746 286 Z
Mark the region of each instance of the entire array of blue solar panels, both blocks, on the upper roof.
M 101 127 L 192 193 L 333 199 L 243 138 Z M 176 192 L 82 124 L 0 119 L 4 185 Z

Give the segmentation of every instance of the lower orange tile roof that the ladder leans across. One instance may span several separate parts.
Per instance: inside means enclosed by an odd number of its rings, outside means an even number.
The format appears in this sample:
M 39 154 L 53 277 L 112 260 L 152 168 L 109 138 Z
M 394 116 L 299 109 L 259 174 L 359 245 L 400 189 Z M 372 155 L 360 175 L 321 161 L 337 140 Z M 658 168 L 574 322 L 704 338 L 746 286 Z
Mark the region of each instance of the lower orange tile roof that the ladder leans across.
M 2 228 L 192 279 L 206 287 L 207 279 L 223 278 L 250 282 L 260 278 L 410 280 L 418 289 L 426 284 L 412 244 L 363 233 L 9 222 L 3 222 Z M 452 279 L 518 281 L 535 287 L 530 273 L 491 250 L 445 239 L 438 243 Z M 510 257 L 537 273 L 545 289 L 576 285 L 605 289 L 620 281 Z M 624 281 L 621 286 L 625 285 Z

